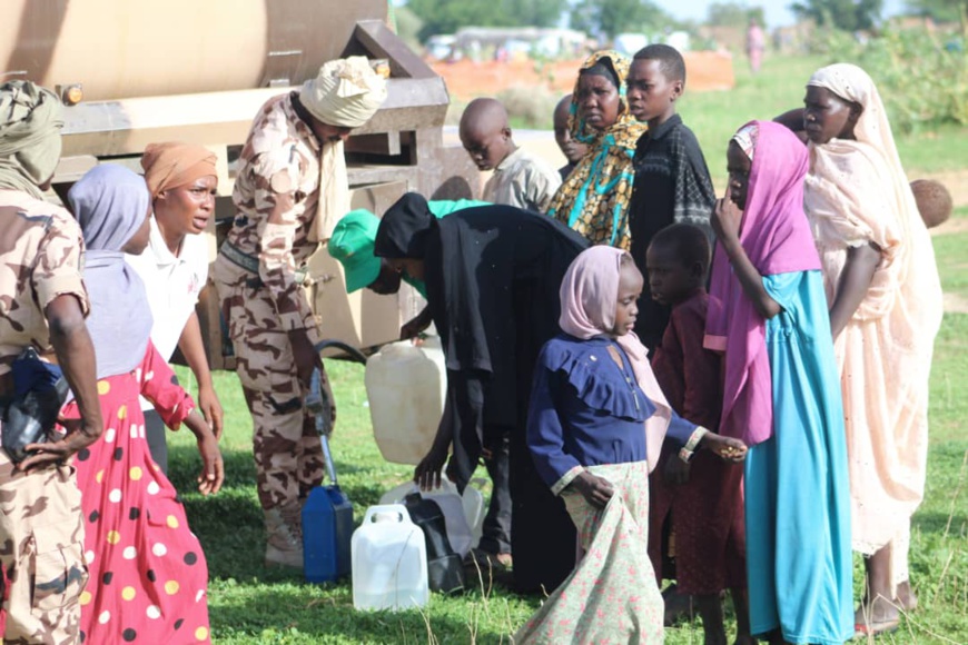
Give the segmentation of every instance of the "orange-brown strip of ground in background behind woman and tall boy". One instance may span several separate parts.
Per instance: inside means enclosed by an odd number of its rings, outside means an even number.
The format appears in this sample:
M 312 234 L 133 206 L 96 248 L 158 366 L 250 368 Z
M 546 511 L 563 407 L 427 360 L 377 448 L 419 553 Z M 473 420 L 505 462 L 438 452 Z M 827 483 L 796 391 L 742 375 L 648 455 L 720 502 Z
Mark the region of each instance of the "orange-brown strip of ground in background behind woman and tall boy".
M 689 69 L 689 91 L 728 90 L 735 85 L 733 60 L 729 53 L 714 51 L 685 52 Z M 541 87 L 559 95 L 574 89 L 582 60 L 539 63 L 531 60 L 508 62 L 433 62 L 431 67 L 444 77 L 451 96 L 460 101 L 474 97 L 495 96 L 513 87 Z

